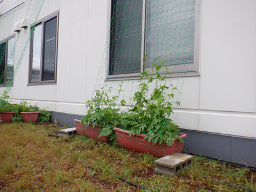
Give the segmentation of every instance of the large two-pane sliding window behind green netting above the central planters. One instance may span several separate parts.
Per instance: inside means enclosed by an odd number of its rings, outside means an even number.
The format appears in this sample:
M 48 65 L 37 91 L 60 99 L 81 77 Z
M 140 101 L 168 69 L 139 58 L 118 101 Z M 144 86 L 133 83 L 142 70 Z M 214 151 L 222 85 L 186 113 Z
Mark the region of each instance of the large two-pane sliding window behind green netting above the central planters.
M 151 71 L 155 58 L 172 74 L 198 72 L 195 0 L 112 0 L 111 6 L 108 78 Z

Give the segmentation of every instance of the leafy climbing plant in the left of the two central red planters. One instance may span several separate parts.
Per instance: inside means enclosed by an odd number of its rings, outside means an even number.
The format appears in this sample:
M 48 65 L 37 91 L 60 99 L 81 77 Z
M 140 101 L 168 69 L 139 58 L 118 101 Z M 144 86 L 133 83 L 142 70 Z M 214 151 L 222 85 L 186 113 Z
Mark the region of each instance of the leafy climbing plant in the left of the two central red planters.
M 120 106 L 117 107 L 117 100 L 120 96 L 121 86 L 118 90 L 118 95 L 110 97 L 111 88 L 104 90 L 104 87 L 101 87 L 101 90 L 95 91 L 95 97 L 92 97 L 86 103 L 86 112 L 85 117 L 82 119 L 82 124 L 88 126 L 92 124 L 92 127 L 98 125 L 101 128 L 100 136 L 111 136 L 110 140 L 114 140 L 113 128 L 121 124 L 120 116 Z M 124 99 L 121 100 L 121 106 L 125 105 Z

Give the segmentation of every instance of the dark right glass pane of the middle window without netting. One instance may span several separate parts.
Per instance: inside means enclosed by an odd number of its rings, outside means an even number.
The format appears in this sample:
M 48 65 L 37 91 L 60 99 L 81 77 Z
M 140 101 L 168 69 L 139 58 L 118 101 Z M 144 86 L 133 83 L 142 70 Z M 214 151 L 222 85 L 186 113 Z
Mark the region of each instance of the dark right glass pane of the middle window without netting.
M 42 80 L 54 80 L 57 17 L 46 21 L 44 26 L 44 50 Z

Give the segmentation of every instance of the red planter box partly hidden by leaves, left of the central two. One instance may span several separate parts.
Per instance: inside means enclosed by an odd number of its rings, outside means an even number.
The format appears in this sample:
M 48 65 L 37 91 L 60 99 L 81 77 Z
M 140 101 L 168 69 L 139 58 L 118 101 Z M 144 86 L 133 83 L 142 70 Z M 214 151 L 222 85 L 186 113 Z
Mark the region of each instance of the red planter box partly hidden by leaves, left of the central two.
M 93 140 L 102 141 L 102 142 L 106 142 L 106 143 L 108 142 L 108 137 L 106 137 L 106 136 L 99 137 L 99 135 L 101 134 L 99 132 L 99 130 L 101 128 L 99 128 L 98 126 L 92 127 L 92 125 L 89 124 L 86 127 L 86 125 L 81 124 L 81 121 L 79 119 L 74 119 L 74 121 L 76 121 L 77 134 L 85 133 L 87 137 L 92 138 Z

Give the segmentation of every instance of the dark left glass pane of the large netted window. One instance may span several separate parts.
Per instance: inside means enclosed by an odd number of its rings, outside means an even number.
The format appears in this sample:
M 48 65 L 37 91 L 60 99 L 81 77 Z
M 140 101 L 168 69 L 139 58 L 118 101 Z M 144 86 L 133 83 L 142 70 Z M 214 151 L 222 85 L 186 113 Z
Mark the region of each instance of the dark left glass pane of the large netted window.
M 116 0 L 111 18 L 109 74 L 141 72 L 142 0 Z

